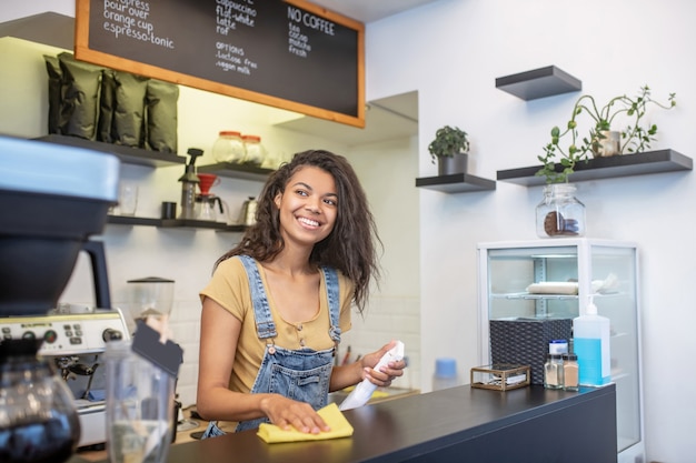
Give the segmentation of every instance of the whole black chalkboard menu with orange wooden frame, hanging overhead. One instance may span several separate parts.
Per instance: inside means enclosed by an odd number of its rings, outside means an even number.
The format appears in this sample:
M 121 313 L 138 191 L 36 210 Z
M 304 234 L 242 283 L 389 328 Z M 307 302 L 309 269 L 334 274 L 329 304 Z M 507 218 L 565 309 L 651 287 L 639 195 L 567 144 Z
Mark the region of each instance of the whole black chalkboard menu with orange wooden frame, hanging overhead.
M 365 127 L 364 24 L 302 0 L 78 0 L 78 59 Z

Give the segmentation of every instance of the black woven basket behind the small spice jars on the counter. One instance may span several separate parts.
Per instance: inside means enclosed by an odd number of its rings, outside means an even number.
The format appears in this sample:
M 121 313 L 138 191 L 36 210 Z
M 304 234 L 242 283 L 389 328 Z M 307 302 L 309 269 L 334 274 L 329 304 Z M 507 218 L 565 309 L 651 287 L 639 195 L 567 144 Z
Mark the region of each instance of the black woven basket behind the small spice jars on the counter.
M 571 336 L 571 319 L 490 320 L 491 362 L 529 365 L 531 384 L 544 384 L 548 343 Z

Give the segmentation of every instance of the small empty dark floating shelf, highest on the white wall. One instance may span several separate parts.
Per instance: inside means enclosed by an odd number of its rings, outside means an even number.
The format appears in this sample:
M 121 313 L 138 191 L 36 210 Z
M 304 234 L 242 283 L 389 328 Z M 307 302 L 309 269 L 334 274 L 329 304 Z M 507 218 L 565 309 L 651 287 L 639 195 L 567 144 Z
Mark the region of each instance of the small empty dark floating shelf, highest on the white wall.
M 529 101 L 583 90 L 583 82 L 555 66 L 547 66 L 497 78 L 496 88 Z

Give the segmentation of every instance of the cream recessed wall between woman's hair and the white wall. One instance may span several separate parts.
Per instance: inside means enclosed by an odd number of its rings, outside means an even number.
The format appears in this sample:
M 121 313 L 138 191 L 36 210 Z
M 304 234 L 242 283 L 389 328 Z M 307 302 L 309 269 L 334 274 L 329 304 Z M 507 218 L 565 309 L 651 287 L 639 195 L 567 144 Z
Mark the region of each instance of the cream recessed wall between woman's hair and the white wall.
M 394 386 L 421 386 L 420 272 L 418 191 L 414 179 L 418 165 L 418 140 L 389 140 L 362 145 L 350 152 L 359 172 L 380 240 L 382 279 L 364 316 L 354 316 L 354 329 L 344 345 L 354 355 L 374 350 L 375 342 L 399 339 L 406 348 L 409 369 Z

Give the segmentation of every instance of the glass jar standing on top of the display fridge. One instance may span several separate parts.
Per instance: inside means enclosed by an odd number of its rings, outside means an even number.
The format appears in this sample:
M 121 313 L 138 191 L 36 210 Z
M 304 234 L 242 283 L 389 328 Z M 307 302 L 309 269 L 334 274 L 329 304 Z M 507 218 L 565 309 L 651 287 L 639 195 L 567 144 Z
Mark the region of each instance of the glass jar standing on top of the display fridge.
M 569 183 L 544 187 L 544 200 L 536 210 L 539 238 L 585 235 L 585 204 L 575 198 L 575 190 Z

